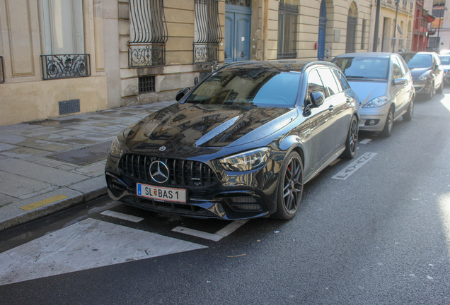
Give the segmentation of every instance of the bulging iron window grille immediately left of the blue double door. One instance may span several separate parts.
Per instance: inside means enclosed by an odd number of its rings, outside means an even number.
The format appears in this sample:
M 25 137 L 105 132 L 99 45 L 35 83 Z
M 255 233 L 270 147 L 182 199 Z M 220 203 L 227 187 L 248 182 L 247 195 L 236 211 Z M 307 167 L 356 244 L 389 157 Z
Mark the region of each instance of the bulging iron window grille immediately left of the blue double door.
M 222 40 L 217 0 L 195 0 L 194 64 L 219 61 Z

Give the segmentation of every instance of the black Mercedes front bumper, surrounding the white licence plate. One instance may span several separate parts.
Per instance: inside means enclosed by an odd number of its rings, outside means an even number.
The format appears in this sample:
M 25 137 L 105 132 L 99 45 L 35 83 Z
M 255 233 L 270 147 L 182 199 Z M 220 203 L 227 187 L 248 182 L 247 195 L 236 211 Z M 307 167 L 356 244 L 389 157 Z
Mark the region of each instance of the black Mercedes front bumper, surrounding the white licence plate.
M 158 213 L 224 220 L 264 217 L 276 210 L 277 172 L 281 164 L 272 159 L 260 169 L 238 174 L 226 172 L 218 162 L 217 164 L 208 162 L 217 174 L 217 183 L 207 187 L 177 186 L 186 189 L 188 193 L 186 203 L 137 196 L 137 182 L 158 185 L 149 181 L 133 181 L 125 177 L 117 164 L 117 159 L 108 157 L 105 167 L 108 195 L 115 201 L 122 201 L 137 208 Z

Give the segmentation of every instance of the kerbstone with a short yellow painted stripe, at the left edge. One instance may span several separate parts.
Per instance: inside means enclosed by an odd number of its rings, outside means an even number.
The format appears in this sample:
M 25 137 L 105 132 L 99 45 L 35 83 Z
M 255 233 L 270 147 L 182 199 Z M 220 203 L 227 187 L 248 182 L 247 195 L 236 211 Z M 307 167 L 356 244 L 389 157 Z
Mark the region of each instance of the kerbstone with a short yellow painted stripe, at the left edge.
M 66 196 L 66 198 L 59 201 L 43 205 L 40 208 L 35 208 L 33 210 L 22 210 L 21 208 L 25 205 L 30 205 L 38 201 L 43 201 L 49 198 L 54 198 L 55 196 Z M 24 201 L 18 201 L 16 203 L 11 203 L 1 208 L 0 213 L 0 232 L 21 225 L 25 222 L 30 222 L 39 217 L 50 215 L 59 210 L 64 210 L 65 208 L 70 208 L 73 205 L 83 203 L 84 195 L 79 191 L 74 191 L 73 189 L 61 188 L 50 193 L 45 193 L 40 196 L 26 199 Z

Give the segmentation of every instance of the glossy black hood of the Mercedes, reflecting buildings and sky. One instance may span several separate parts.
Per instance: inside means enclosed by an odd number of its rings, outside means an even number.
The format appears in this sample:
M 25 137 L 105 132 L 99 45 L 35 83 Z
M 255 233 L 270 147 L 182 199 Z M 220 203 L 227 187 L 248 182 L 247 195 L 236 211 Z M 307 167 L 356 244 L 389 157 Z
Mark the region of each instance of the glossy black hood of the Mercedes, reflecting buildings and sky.
M 134 125 L 124 135 L 125 148 L 173 156 L 185 148 L 242 145 L 275 133 L 296 116 L 296 109 L 289 108 L 173 104 Z

